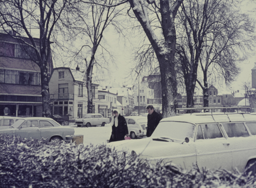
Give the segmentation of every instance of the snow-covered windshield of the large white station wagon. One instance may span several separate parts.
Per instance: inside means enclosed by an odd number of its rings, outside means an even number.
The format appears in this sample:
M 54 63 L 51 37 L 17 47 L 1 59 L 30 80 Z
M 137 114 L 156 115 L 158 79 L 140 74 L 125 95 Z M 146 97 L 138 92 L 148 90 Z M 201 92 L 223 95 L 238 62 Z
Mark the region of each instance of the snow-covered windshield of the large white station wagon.
M 186 137 L 194 138 L 196 126 L 187 122 L 160 122 L 154 130 L 152 137 L 169 137 L 184 140 Z

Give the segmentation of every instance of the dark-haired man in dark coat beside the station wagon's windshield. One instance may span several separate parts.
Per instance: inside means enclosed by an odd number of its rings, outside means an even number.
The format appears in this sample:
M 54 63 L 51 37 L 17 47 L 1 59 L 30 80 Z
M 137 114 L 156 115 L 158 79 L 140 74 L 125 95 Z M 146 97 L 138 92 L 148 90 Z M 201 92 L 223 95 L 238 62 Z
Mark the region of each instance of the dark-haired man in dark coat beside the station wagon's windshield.
M 154 107 L 152 105 L 147 106 L 148 111 L 148 128 L 147 128 L 147 137 L 150 137 L 156 127 L 158 126 L 162 117 L 156 111 L 154 111 Z

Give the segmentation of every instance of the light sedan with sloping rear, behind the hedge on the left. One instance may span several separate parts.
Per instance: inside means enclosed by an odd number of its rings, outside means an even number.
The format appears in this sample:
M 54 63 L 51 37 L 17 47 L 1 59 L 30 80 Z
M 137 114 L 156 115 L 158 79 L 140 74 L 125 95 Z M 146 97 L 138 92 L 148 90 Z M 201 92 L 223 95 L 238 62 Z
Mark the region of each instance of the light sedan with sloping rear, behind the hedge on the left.
M 47 141 L 66 140 L 66 136 L 74 135 L 74 132 L 74 128 L 61 126 L 52 118 L 42 117 L 21 118 L 10 127 L 0 130 L 0 134 L 38 140 L 44 138 Z

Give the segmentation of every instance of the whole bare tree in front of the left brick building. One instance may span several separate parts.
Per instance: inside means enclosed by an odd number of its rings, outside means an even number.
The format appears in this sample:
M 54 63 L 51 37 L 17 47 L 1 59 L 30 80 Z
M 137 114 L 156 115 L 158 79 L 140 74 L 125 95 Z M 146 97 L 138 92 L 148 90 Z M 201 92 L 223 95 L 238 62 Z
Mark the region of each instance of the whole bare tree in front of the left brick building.
M 50 44 L 54 29 L 68 2 L 70 1 L 1 1 L 0 27 L 4 30 L 11 29 L 16 33 L 16 35 L 10 36 L 22 44 L 24 51 L 40 68 L 43 117 L 51 116 L 48 86 L 48 66 L 52 58 Z M 33 36 L 33 30 L 39 34 L 38 38 Z

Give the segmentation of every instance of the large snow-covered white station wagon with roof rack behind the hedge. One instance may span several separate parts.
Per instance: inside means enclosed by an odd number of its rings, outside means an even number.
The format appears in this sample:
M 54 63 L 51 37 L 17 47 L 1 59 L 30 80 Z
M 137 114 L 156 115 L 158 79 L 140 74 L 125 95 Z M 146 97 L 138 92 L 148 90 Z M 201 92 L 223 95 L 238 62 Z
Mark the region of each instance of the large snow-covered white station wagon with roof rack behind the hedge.
M 199 168 L 242 172 L 256 162 L 256 115 L 198 113 L 164 118 L 149 138 L 108 145 L 153 163 L 163 160 L 183 169 L 196 163 Z M 256 172 L 256 164 L 252 169 Z

